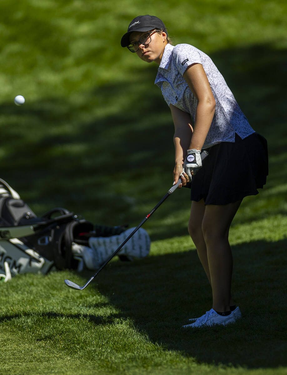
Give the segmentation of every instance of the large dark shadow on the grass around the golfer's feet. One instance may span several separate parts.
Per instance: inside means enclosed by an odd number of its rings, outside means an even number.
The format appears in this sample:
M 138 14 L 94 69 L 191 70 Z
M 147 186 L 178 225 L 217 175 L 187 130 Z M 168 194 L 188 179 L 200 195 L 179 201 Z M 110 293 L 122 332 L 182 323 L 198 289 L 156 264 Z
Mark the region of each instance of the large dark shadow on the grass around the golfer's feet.
M 248 368 L 287 366 L 287 239 L 233 247 L 233 288 L 242 319 L 227 327 L 184 330 L 188 318 L 212 306 L 211 290 L 195 251 L 113 262 L 98 290 L 150 340 L 198 362 Z

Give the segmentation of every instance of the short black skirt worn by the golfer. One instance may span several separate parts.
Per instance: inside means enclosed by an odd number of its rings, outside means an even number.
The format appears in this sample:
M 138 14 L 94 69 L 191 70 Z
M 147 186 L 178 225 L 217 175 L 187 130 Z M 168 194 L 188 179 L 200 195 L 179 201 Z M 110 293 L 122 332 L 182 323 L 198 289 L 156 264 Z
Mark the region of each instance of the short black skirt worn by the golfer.
M 268 151 L 266 139 L 253 133 L 235 142 L 221 142 L 206 149 L 209 155 L 192 178 L 191 200 L 223 205 L 258 194 L 266 184 Z

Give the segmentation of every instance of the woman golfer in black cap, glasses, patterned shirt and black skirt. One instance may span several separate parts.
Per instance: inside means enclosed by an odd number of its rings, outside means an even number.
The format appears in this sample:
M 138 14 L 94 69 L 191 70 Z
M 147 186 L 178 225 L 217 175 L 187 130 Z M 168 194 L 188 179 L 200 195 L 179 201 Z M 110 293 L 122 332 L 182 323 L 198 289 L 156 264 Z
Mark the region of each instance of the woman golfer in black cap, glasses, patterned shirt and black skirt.
M 188 231 L 212 287 L 213 306 L 184 327 L 233 323 L 241 313 L 231 297 L 228 232 L 243 197 L 266 183 L 267 142 L 249 125 L 212 60 L 189 44 L 171 45 L 159 18 L 134 18 L 121 45 L 159 65 L 155 84 L 175 127 L 174 183 L 179 177 L 180 187 L 191 182 Z M 209 153 L 202 165 L 201 150 Z

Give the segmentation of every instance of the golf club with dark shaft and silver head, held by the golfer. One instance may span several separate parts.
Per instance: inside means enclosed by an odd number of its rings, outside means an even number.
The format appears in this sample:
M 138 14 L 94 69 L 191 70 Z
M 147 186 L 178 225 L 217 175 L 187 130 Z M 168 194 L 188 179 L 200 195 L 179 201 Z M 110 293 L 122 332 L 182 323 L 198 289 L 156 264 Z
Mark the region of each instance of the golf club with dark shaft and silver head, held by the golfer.
M 207 151 L 202 151 L 201 153 L 201 160 L 203 160 L 206 156 L 208 155 Z M 179 187 L 179 184 L 182 183 L 182 180 L 181 178 L 179 178 L 179 180 L 177 181 L 177 183 L 175 185 L 173 185 L 169 190 L 168 192 L 165 194 L 164 197 L 162 197 L 162 199 L 158 202 L 158 204 L 150 211 L 149 214 L 147 214 L 147 216 L 140 222 L 140 224 L 137 226 L 137 228 L 134 229 L 134 231 L 132 231 L 132 233 L 125 239 L 125 241 L 122 243 L 122 245 L 120 245 L 116 251 L 102 264 L 102 266 L 97 270 L 97 272 L 86 282 L 86 284 L 83 286 L 83 287 L 80 287 L 80 285 L 77 285 L 75 284 L 74 282 L 70 281 L 70 280 L 65 280 L 65 284 L 67 285 L 67 287 L 69 288 L 72 288 L 72 289 L 76 289 L 76 290 L 83 290 L 85 289 L 92 281 L 93 279 L 95 279 L 95 277 L 98 275 L 99 272 L 101 272 L 101 270 L 110 262 L 110 260 L 120 251 L 120 249 L 128 242 L 128 240 L 135 234 L 135 232 L 140 229 L 140 227 L 146 222 L 146 220 L 152 216 L 152 214 L 155 212 L 155 210 L 165 201 L 165 199 L 167 199 L 173 192 L 174 190 L 177 189 L 177 187 Z

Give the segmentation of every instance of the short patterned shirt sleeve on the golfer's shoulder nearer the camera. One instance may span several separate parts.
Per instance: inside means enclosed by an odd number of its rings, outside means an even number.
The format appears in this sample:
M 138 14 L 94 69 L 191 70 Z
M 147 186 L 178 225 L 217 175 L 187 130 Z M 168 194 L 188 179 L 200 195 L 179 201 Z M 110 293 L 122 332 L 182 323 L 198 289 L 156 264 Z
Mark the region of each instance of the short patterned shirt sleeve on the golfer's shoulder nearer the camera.
M 189 65 L 195 63 L 202 65 L 199 49 L 190 44 L 177 44 L 172 51 L 171 58 L 181 75 Z

